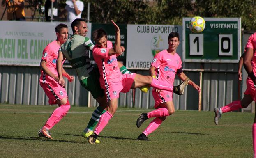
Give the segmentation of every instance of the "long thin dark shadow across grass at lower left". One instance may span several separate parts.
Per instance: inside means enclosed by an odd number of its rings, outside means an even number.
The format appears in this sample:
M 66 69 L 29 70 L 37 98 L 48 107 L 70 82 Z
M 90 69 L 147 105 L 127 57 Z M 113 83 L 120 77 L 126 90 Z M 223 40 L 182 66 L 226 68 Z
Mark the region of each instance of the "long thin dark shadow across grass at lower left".
M 9 135 L 2 135 L 0 136 L 0 140 L 39 140 L 39 141 L 53 141 L 53 142 L 68 142 L 68 143 L 78 143 L 78 144 L 88 144 L 87 141 L 85 142 L 77 142 L 72 140 L 49 140 L 43 137 L 21 137 L 21 136 L 9 136 Z

